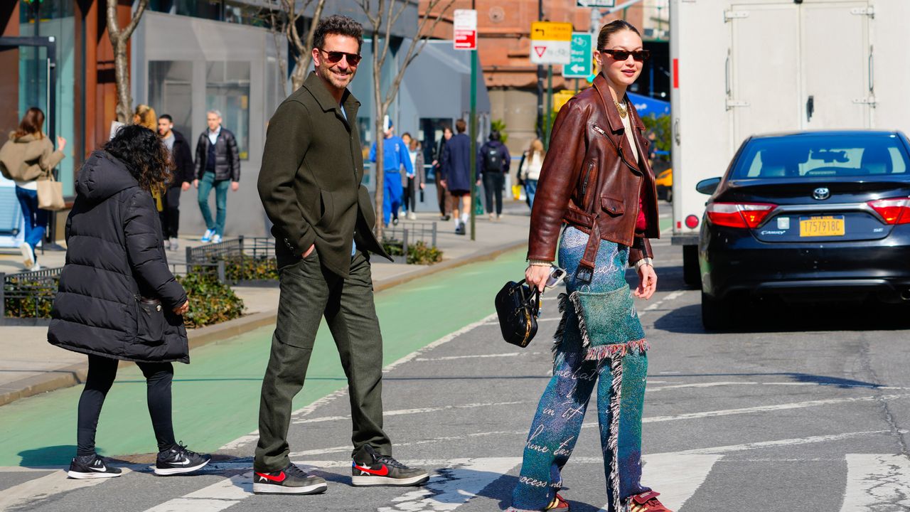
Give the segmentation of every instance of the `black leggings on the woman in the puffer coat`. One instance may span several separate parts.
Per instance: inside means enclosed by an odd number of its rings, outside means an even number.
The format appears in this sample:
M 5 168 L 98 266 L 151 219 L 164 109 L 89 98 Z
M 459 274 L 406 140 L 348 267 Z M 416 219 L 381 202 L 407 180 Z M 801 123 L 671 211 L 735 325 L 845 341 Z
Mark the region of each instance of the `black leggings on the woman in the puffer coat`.
M 76 455 L 90 456 L 95 453 L 98 416 L 101 415 L 101 406 L 105 403 L 107 392 L 114 384 L 117 363 L 116 359 L 88 356 L 86 387 L 79 397 Z M 174 379 L 174 366 L 170 363 L 136 363 L 136 366 L 146 376 L 148 415 L 152 417 L 158 451 L 167 450 L 177 444 L 171 422 L 170 385 Z

